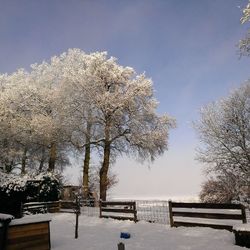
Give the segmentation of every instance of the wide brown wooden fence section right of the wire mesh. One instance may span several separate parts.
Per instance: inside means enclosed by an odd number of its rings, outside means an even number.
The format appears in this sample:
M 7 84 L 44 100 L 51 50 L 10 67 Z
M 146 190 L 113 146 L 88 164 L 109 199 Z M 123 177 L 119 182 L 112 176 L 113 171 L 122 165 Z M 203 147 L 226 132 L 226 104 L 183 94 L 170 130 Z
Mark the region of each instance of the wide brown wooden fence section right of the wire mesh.
M 233 228 L 231 220 L 246 223 L 245 207 L 241 204 L 181 203 L 169 201 L 169 218 L 171 227 L 200 226 L 229 231 L 232 231 Z M 196 218 L 201 220 L 197 221 L 195 220 Z M 223 222 L 218 222 L 222 220 Z

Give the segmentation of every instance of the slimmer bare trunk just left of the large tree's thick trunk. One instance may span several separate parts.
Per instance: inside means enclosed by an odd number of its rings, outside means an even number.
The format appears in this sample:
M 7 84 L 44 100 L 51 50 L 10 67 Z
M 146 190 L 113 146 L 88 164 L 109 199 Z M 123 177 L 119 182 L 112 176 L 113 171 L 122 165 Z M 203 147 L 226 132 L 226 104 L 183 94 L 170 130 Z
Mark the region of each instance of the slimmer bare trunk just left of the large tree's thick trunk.
M 88 199 L 89 195 L 89 163 L 90 163 L 90 144 L 85 147 L 84 163 L 83 163 L 83 180 L 82 191 L 83 198 Z

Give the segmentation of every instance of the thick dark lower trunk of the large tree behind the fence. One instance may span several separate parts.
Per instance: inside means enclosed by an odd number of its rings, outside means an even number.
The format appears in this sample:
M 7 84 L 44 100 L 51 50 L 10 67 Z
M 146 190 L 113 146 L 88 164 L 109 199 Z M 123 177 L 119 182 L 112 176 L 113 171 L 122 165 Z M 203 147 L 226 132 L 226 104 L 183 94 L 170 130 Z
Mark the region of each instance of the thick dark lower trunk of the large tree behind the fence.
M 110 142 L 105 141 L 103 163 L 100 169 L 100 199 L 106 201 L 108 185 L 108 169 L 110 161 Z

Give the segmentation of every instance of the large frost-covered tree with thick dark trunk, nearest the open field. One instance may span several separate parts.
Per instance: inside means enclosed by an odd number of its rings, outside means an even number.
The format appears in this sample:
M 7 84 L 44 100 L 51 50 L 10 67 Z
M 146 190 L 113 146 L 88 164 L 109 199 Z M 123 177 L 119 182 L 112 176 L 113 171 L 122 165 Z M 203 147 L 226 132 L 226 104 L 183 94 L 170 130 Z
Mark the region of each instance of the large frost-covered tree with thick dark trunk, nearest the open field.
M 103 148 L 100 198 L 106 200 L 111 153 L 153 159 L 167 148 L 168 130 L 174 122 L 156 114 L 152 81 L 119 65 L 107 53 L 90 55 L 86 75 L 86 95 L 95 115 L 95 138 Z

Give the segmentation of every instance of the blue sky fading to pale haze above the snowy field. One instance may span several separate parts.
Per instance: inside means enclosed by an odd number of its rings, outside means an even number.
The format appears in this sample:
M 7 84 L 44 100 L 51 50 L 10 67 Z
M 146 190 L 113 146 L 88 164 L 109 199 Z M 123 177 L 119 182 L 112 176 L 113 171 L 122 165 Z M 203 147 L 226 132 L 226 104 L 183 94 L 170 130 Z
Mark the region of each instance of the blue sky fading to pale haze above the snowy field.
M 199 109 L 250 76 L 237 42 L 246 0 L 0 0 L 0 73 L 49 60 L 69 48 L 107 51 L 154 83 L 158 112 L 177 121 L 169 149 L 154 163 L 126 156 L 112 166 L 112 197 L 192 197 L 205 180 L 195 160 Z M 72 182 L 81 159 L 66 170 Z

